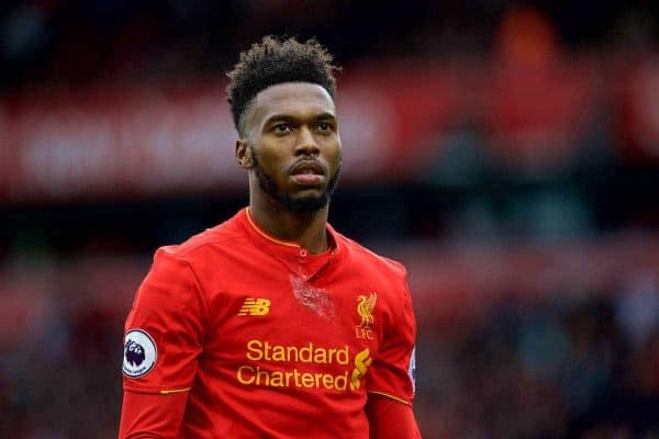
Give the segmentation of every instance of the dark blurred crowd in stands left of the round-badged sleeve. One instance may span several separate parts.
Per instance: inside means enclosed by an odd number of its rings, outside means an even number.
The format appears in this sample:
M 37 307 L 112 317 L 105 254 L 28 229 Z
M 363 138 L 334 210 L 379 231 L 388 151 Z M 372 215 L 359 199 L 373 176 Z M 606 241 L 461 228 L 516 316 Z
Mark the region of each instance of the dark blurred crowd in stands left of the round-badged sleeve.
M 57 305 L 0 347 L 0 437 L 116 438 L 124 316 Z

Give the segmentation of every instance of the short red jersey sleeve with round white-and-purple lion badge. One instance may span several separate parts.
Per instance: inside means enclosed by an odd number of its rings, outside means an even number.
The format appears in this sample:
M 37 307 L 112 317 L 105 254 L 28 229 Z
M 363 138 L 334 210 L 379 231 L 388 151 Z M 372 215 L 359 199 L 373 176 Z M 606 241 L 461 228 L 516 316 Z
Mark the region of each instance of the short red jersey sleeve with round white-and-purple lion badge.
M 189 390 L 203 346 L 204 311 L 189 263 L 159 249 L 126 319 L 124 390 L 163 394 Z

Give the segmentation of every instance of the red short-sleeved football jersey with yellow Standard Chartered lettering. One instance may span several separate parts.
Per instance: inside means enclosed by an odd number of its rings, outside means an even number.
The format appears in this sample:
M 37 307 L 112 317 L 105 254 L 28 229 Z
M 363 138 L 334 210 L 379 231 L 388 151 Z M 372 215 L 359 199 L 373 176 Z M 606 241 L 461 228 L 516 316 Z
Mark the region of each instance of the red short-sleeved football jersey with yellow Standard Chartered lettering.
M 126 320 L 124 390 L 188 393 L 180 438 L 368 438 L 367 393 L 413 399 L 406 272 L 327 230 L 310 255 L 245 209 L 160 248 Z

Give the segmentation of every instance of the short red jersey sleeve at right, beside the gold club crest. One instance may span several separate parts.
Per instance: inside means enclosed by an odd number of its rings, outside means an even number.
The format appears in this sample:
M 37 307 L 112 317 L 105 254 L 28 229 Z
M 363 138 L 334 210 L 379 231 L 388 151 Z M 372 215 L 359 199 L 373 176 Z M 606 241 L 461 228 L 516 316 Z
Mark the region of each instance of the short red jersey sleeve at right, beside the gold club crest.
M 401 290 L 399 297 L 402 303 L 395 304 L 396 317 L 393 325 L 384 330 L 384 340 L 367 375 L 367 389 L 369 393 L 412 404 L 416 374 L 416 319 L 406 281 Z

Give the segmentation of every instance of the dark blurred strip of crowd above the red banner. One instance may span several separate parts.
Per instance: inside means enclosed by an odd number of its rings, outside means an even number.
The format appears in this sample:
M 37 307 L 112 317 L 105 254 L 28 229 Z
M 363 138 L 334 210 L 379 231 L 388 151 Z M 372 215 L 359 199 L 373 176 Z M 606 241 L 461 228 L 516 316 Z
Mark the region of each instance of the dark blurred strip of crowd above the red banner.
M 518 8 L 522 7 L 522 8 Z M 268 33 L 316 36 L 342 64 L 656 45 L 649 1 L 8 0 L 0 4 L 0 85 L 216 75 Z

